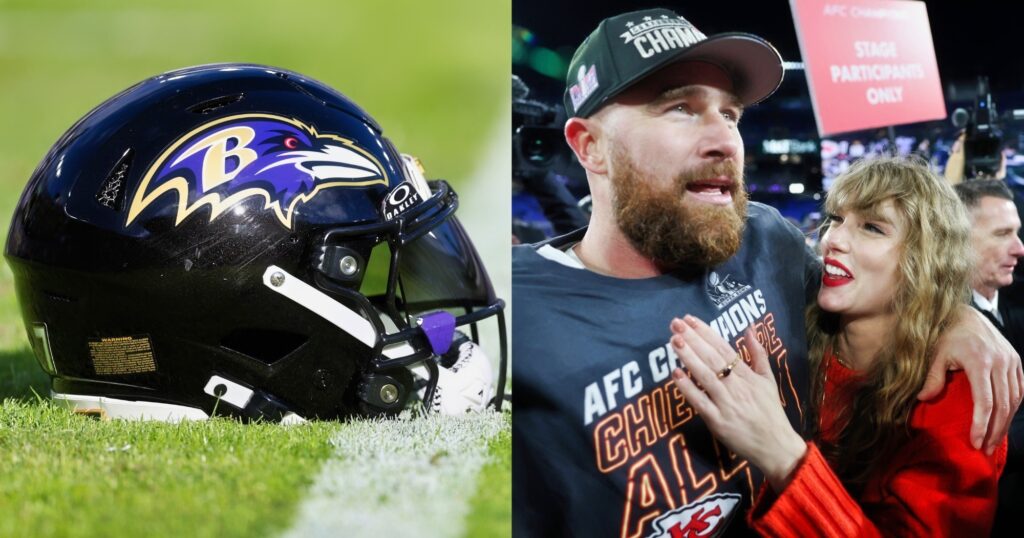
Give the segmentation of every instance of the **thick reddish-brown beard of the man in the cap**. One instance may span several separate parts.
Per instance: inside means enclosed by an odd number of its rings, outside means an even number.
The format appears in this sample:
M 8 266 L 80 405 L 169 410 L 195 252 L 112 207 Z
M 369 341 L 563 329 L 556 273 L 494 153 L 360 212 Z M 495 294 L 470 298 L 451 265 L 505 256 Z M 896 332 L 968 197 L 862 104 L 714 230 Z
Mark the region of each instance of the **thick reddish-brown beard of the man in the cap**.
M 668 188 L 658 188 L 622 151 L 612 155 L 610 164 L 618 227 L 641 254 L 674 270 L 716 266 L 739 250 L 746 221 L 740 165 L 731 160 L 710 163 L 681 173 Z M 688 183 L 720 176 L 734 180 L 731 206 L 686 201 Z

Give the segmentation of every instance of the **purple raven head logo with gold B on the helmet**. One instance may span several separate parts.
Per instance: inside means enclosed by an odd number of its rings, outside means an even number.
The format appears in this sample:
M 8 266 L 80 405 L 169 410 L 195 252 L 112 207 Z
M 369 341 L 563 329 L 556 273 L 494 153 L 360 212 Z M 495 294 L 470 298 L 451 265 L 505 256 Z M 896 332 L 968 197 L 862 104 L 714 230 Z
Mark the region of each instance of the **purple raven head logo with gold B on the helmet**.
M 372 184 L 387 185 L 387 174 L 352 140 L 283 116 L 229 116 L 194 129 L 157 159 L 135 191 L 125 226 L 173 193 L 174 225 L 204 206 L 213 221 L 243 200 L 261 197 L 263 209 L 291 229 L 296 206 L 321 191 Z

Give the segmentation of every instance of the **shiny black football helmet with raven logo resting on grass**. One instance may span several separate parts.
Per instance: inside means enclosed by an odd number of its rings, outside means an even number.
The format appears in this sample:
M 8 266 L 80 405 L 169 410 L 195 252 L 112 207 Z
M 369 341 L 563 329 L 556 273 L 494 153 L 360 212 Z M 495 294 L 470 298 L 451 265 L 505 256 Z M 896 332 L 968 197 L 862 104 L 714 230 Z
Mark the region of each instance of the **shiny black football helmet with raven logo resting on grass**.
M 387 415 L 420 388 L 412 368 L 436 408 L 456 328 L 475 345 L 484 320 L 498 324 L 501 408 L 504 302 L 457 205 L 338 91 L 200 66 L 128 88 L 60 136 L 6 256 L 52 395 L 80 411 Z

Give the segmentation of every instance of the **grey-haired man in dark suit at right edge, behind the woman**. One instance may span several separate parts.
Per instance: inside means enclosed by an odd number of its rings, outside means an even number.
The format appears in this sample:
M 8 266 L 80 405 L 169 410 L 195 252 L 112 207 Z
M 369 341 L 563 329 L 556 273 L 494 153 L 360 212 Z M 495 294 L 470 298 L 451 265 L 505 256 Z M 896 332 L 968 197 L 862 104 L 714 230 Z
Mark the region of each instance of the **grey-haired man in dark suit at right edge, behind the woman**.
M 1024 293 L 1014 284 L 1017 258 L 1024 256 L 1018 233 L 1021 219 L 1014 195 L 1000 179 L 977 179 L 955 185 L 971 215 L 975 270 L 971 303 L 995 325 L 1018 354 L 1024 353 Z M 1004 294 L 999 294 L 999 289 Z M 1024 505 L 1024 413 L 1010 426 L 1007 467 L 999 480 L 999 506 L 994 529 L 1017 528 Z

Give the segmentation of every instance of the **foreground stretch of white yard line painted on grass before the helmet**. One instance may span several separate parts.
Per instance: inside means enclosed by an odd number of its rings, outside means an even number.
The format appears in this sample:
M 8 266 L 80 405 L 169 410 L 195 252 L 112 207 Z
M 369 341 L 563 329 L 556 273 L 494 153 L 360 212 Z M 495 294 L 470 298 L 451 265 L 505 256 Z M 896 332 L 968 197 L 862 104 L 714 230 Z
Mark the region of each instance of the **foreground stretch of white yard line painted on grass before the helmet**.
M 344 424 L 286 538 L 462 536 L 499 413 Z

